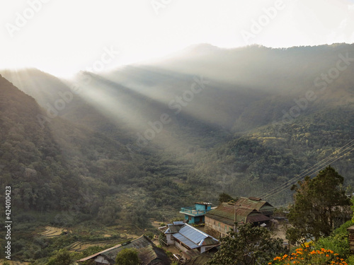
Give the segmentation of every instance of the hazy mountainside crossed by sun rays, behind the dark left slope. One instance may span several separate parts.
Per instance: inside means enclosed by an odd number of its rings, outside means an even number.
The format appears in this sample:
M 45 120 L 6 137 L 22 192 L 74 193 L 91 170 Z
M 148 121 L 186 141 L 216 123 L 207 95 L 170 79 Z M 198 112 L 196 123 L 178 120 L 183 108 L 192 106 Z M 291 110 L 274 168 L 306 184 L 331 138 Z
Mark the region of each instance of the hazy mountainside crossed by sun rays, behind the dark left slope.
M 50 118 L 45 130 L 90 192 L 139 191 L 150 198 L 147 207 L 161 211 L 195 199 L 215 202 L 222 191 L 266 194 L 336 154 L 353 138 L 353 54 L 346 44 L 197 45 L 154 64 L 73 80 L 35 69 L 2 73 L 45 115 L 71 93 L 57 110 L 61 119 Z M 162 114 L 169 117 L 164 124 Z M 351 185 L 352 159 L 348 153 L 333 164 Z M 285 204 L 288 192 L 270 201 Z

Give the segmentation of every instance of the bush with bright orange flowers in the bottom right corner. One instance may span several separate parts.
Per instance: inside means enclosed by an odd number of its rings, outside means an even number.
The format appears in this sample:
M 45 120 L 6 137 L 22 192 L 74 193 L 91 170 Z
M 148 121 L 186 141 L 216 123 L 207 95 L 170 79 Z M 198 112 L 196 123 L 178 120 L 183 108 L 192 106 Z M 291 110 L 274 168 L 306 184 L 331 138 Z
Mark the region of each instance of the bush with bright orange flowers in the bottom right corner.
M 340 259 L 337 253 L 330 249 L 312 250 L 309 245 L 304 249 L 296 249 L 292 254 L 285 254 L 282 257 L 275 257 L 273 262 L 268 264 L 273 265 L 326 265 L 326 264 L 339 264 L 348 265 L 344 259 Z

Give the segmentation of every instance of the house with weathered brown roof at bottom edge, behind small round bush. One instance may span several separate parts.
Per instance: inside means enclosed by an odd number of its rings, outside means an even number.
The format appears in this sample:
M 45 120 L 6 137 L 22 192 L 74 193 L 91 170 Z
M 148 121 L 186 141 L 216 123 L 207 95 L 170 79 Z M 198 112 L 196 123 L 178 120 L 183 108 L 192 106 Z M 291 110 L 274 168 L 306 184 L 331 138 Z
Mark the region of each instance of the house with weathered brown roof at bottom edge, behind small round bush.
M 91 261 L 95 265 L 115 265 L 115 257 L 117 257 L 117 254 L 125 248 L 136 249 L 141 262 L 140 264 L 142 265 L 171 264 L 171 261 L 164 250 L 156 247 L 156 245 L 144 235 L 130 242 L 105 249 L 102 252 L 98 252 L 76 262 L 79 264 L 86 264 L 87 261 Z

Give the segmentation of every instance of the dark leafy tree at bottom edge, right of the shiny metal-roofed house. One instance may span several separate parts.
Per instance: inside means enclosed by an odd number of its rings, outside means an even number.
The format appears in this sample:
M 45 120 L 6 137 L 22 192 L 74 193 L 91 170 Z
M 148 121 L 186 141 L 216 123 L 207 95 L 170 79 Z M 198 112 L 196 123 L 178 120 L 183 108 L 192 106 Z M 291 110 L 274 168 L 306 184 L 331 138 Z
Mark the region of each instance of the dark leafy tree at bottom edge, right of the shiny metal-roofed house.
M 252 224 L 237 226 L 222 237 L 221 247 L 208 265 L 268 264 L 276 255 L 284 254 L 280 238 L 271 238 L 270 232 Z

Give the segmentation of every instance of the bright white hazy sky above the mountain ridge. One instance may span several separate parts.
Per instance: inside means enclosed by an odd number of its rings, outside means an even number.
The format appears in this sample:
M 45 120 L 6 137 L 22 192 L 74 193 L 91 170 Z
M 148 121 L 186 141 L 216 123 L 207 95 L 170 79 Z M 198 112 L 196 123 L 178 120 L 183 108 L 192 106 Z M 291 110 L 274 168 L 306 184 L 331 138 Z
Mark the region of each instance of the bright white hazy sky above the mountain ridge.
M 198 43 L 267 47 L 354 42 L 350 0 L 0 0 L 0 69 L 64 76 Z M 153 6 L 154 5 L 154 6 Z

